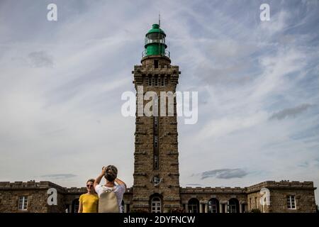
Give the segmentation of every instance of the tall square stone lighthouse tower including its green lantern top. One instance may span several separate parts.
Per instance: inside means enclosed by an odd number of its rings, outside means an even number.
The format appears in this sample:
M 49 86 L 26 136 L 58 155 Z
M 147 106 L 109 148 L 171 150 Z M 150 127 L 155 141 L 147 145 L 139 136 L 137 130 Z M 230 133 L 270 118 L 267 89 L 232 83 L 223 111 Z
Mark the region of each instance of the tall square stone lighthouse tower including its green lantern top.
M 133 71 L 136 91 L 142 90 L 143 94 L 155 92 L 158 99 L 153 100 L 153 104 L 157 102 L 158 106 L 163 100 L 163 92 L 176 91 L 180 74 L 179 67 L 171 65 L 165 38 L 166 34 L 159 28 L 159 24 L 153 24 L 145 35 L 142 65 L 135 65 Z M 181 204 L 176 99 L 170 103 L 174 110 L 171 114 L 167 111 L 168 98 L 164 99 L 165 116 L 160 111 L 158 116 L 141 116 L 139 111 L 136 114 L 132 201 L 134 210 L 169 212 Z M 145 100 L 145 96 L 144 99 L 138 97 L 137 110 L 144 109 L 150 101 L 152 98 Z M 163 101 L 162 103 L 164 104 Z

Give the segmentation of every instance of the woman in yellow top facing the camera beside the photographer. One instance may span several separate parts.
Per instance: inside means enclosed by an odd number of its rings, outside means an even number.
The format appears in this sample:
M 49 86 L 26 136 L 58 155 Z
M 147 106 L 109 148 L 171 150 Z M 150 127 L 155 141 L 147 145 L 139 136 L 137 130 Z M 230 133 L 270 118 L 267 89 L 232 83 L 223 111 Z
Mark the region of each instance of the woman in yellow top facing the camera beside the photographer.
M 79 197 L 79 213 L 97 213 L 99 207 L 99 196 L 94 190 L 94 179 L 86 182 L 87 193 Z

